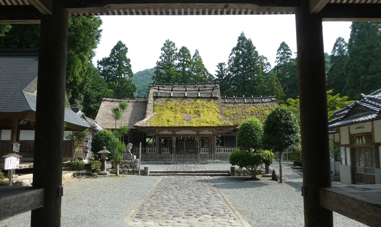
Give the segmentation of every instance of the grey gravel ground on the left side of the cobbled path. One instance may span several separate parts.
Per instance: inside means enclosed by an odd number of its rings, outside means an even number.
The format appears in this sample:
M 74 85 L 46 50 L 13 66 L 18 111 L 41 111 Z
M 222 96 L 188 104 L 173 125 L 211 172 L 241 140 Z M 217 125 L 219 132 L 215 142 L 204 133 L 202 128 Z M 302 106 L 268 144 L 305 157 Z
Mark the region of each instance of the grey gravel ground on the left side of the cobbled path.
M 124 177 L 64 180 L 61 226 L 125 226 L 125 217 L 147 194 L 159 177 L 122 176 Z M 102 201 L 99 199 L 100 190 Z M 30 226 L 30 212 L 0 221 L 0 226 Z

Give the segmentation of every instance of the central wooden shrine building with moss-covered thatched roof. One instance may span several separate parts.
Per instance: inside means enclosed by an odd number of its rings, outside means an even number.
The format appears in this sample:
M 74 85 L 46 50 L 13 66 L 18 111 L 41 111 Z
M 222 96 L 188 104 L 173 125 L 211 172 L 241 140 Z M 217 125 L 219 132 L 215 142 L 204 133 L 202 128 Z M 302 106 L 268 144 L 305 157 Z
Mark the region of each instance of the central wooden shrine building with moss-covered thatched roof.
M 126 102 L 120 124 L 130 128 L 125 143 L 144 161 L 228 160 L 237 126 L 248 117 L 262 121 L 277 105 L 274 97 L 224 97 L 218 83 L 151 84 L 148 97 L 104 98 L 96 120 L 113 130 L 112 107 Z

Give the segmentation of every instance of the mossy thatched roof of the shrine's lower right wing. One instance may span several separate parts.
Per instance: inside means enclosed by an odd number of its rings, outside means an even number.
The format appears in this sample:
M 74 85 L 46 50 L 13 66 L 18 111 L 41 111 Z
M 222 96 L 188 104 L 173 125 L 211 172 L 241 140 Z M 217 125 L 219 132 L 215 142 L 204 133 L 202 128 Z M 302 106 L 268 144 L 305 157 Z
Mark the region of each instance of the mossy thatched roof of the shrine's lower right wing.
M 223 99 L 224 100 L 224 99 Z M 268 102 L 223 102 L 222 108 L 224 116 L 227 119 L 234 121 L 240 125 L 245 119 L 249 117 L 256 117 L 259 121 L 264 122 L 267 115 L 277 107 L 276 100 L 269 100 Z

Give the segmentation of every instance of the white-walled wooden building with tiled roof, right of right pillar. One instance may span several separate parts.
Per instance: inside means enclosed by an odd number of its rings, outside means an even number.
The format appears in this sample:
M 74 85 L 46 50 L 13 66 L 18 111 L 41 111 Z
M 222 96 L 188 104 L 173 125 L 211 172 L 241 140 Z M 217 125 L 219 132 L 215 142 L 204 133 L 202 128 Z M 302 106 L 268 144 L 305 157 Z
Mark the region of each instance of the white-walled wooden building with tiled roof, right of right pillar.
M 340 147 L 343 184 L 381 184 L 381 89 L 333 113 L 330 140 Z

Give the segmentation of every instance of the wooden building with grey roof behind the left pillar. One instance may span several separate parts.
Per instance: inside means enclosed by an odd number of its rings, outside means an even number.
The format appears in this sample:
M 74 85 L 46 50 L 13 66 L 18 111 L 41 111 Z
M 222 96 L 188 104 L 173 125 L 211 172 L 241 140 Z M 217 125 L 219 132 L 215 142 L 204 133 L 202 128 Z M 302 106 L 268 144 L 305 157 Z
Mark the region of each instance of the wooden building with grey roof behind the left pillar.
M 37 49 L 0 50 L 0 157 L 9 154 L 11 143 L 18 141 L 21 160 L 33 161 L 37 66 Z M 67 100 L 66 95 L 65 98 Z M 90 128 L 84 119 L 70 110 L 70 106 L 64 112 L 68 133 Z M 73 156 L 72 144 L 64 141 L 64 160 L 70 160 Z

